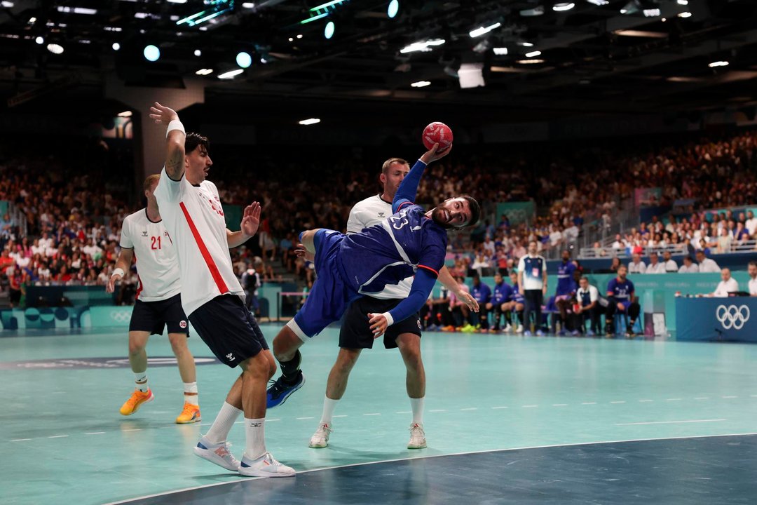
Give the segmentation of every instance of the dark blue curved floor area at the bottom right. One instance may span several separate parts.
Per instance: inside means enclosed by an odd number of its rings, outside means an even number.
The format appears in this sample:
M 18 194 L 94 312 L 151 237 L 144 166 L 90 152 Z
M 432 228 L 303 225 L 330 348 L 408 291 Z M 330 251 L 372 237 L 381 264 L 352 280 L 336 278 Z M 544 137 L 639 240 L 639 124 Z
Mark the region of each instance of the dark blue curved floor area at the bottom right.
M 757 435 L 428 457 L 252 479 L 132 505 L 755 503 Z

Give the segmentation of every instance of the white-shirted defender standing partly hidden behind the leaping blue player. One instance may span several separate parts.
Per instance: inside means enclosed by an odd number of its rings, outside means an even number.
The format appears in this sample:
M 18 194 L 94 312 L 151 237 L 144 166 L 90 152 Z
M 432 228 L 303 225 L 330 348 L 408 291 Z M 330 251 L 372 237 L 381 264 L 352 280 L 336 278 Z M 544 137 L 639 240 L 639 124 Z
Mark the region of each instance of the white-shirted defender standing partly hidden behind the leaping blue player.
M 397 194 L 400 182 L 410 172 L 410 164 L 399 157 L 389 158 L 382 165 L 379 181 L 382 192 L 357 202 L 350 210 L 347 220 L 347 234 L 359 233 L 382 223 L 391 216 L 391 202 Z M 299 249 L 298 251 L 303 251 Z M 312 258 L 311 258 L 312 259 Z M 478 311 L 478 304 L 469 293 L 459 288 L 459 284 L 447 271 L 439 270 L 439 282 L 455 293 L 460 300 L 466 301 L 471 310 Z M 404 279 L 399 284 L 387 285 L 383 291 L 358 298 L 347 308 L 339 332 L 339 354 L 329 373 L 326 384 L 326 397 L 323 399 L 323 412 L 315 434 L 310 438 L 310 447 L 320 448 L 329 444 L 332 433 L 332 419 L 336 404 L 347 390 L 347 379 L 360 357 L 360 351 L 373 347 L 375 339 L 370 329 L 368 313 L 384 313 L 393 309 L 410 295 L 413 278 Z M 421 358 L 421 326 L 418 314 L 408 317 L 390 326 L 384 334 L 384 347 L 399 348 L 400 355 L 407 369 L 405 385 L 410 397 L 413 422 L 410 423 L 410 442 L 408 449 L 426 447 L 423 430 L 423 403 L 425 398 L 425 370 Z

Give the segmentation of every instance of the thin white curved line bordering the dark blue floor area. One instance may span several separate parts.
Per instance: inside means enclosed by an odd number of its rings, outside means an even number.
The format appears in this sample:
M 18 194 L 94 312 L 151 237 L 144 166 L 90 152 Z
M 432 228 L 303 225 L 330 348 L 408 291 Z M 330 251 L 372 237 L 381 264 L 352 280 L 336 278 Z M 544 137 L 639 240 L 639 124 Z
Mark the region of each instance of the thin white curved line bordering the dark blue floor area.
M 321 472 L 322 470 L 336 470 L 336 469 L 341 469 L 341 468 L 351 468 L 353 466 L 378 465 L 381 463 L 397 463 L 400 461 L 410 461 L 410 460 L 430 460 L 432 458 L 448 457 L 448 456 L 466 456 L 467 454 L 490 454 L 490 453 L 499 453 L 499 452 L 512 452 L 513 450 L 551 449 L 555 447 L 579 447 L 579 446 L 584 446 L 584 445 L 622 444 L 626 442 L 646 442 L 646 441 L 661 441 L 661 440 L 690 440 L 693 438 L 744 437 L 744 436 L 750 436 L 750 435 L 757 435 L 757 432 L 725 433 L 721 435 L 691 435 L 691 436 L 686 436 L 686 437 L 629 438 L 625 440 L 575 442 L 573 444 L 548 444 L 548 445 L 533 445 L 533 446 L 526 446 L 526 447 L 510 447 L 508 449 L 472 450 L 472 451 L 449 453 L 449 454 L 429 454 L 428 456 L 403 457 L 403 458 L 396 458 L 394 460 L 368 461 L 366 463 L 350 463 L 347 465 L 324 466 L 323 468 L 313 468 L 309 470 L 298 471 L 297 474 L 300 475 L 301 473 Z M 229 475 L 233 475 L 233 474 L 230 473 Z M 189 488 L 174 489 L 172 491 L 163 491 L 161 493 L 147 494 L 145 496 L 128 498 L 126 500 L 111 501 L 111 502 L 104 503 L 104 505 L 122 505 L 123 503 L 133 503 L 138 500 L 148 500 L 149 498 L 166 496 L 168 494 L 183 493 L 184 491 L 195 491 L 197 489 L 204 489 L 204 488 L 214 488 L 217 486 L 238 484 L 239 482 L 254 481 L 254 480 L 259 480 L 259 479 L 271 479 L 271 478 L 270 477 L 248 477 L 246 479 L 235 479 L 229 482 L 214 482 L 213 484 L 205 484 L 205 485 L 199 485 L 199 486 L 192 486 Z M 285 479 L 288 479 L 288 478 L 285 478 Z

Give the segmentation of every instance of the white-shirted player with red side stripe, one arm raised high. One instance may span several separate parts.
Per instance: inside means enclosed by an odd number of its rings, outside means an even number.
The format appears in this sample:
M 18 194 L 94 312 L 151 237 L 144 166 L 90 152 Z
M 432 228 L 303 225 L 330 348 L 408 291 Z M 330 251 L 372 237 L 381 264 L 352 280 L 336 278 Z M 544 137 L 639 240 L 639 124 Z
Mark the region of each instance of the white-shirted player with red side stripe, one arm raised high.
M 182 283 L 182 306 L 210 351 L 231 368 L 241 368 L 213 426 L 195 454 L 223 468 L 253 477 L 289 477 L 294 469 L 266 450 L 266 385 L 276 372 L 263 332 L 245 307 L 245 291 L 232 267 L 229 248 L 241 245 L 260 226 L 260 204 L 245 207 L 240 231 L 226 228 L 223 206 L 213 182 L 208 141 L 185 133 L 179 116 L 158 103 L 150 109 L 156 123 L 167 125 L 166 164 L 155 190 L 166 228 L 176 245 Z M 245 413 L 245 453 L 241 461 L 226 438 Z

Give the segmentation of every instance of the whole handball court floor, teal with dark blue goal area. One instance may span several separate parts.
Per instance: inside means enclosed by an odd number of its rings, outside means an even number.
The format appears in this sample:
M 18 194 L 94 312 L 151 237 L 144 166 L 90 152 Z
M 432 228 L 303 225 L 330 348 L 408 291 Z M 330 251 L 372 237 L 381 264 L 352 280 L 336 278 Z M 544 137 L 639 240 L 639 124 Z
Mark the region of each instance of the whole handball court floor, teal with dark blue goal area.
M 263 325 L 269 342 L 279 326 Z M 155 401 L 126 334 L 0 338 L 0 503 L 755 503 L 757 346 L 429 333 L 428 448 L 407 450 L 397 351 L 364 351 L 329 447 L 307 447 L 338 329 L 303 348 L 304 388 L 269 410 L 268 449 L 300 473 L 241 479 L 192 454 L 236 373 L 197 337 L 201 424 L 177 426 L 167 338 L 148 344 Z M 241 426 L 229 438 L 244 449 Z

